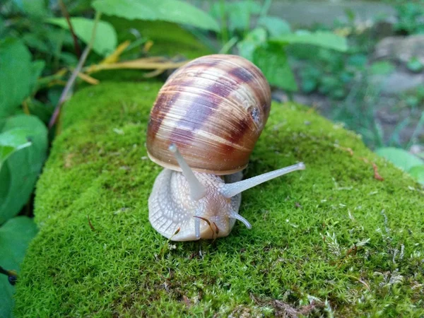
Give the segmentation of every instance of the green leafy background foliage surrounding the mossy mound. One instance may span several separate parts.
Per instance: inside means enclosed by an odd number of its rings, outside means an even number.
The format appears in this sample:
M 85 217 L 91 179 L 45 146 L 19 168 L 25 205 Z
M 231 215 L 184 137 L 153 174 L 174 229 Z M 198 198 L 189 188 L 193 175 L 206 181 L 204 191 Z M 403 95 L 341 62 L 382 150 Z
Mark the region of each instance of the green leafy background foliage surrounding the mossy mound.
M 0 316 L 11 315 L 10 270 L 36 232 L 31 199 L 60 133 L 61 105 L 87 85 L 165 80 L 189 59 L 239 54 L 264 71 L 274 100 L 302 102 L 343 122 L 424 183 L 424 1 L 376 2 L 393 14 L 361 20 L 346 8 L 326 23 L 302 25 L 271 10 L 271 0 L 1 1 L 0 239 L 8 238 L 0 240 L 0 290 L 8 301 Z M 413 42 L 411 54 L 396 57 L 399 39 Z M 405 74 L 421 82 L 394 91 Z M 7 255 L 15 252 L 13 263 Z

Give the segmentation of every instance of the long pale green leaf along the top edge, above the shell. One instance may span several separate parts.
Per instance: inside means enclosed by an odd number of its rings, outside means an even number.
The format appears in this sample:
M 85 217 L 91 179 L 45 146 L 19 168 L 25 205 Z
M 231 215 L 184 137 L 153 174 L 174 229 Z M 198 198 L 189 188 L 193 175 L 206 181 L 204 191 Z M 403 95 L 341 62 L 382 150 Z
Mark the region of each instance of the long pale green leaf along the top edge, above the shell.
M 219 25 L 204 11 L 177 0 L 95 0 L 93 7 L 109 16 L 129 20 L 164 20 L 193 25 L 206 30 L 219 30 Z

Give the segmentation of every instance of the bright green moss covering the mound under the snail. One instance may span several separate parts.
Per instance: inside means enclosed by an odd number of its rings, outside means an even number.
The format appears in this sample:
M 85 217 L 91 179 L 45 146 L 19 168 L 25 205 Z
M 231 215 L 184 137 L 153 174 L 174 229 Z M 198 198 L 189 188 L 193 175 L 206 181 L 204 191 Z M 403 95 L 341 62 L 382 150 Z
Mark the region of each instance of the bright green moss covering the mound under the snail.
M 161 170 L 144 146 L 159 88 L 103 83 L 66 105 L 37 184 L 18 317 L 273 316 L 313 299 L 338 317 L 424 315 L 422 190 L 297 105 L 273 105 L 247 176 L 300 160 L 307 170 L 243 194 L 252 230 L 167 245 L 147 208 Z

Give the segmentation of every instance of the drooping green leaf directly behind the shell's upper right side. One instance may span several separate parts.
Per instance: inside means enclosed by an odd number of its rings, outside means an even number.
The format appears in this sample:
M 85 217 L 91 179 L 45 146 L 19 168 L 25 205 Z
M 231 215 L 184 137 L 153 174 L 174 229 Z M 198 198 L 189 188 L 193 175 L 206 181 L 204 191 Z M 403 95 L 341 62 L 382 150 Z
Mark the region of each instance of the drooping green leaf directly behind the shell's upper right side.
M 285 90 L 298 90 L 298 84 L 293 71 L 290 69 L 282 45 L 268 43 L 257 47 L 253 54 L 253 61 L 264 72 L 266 79 L 271 85 Z

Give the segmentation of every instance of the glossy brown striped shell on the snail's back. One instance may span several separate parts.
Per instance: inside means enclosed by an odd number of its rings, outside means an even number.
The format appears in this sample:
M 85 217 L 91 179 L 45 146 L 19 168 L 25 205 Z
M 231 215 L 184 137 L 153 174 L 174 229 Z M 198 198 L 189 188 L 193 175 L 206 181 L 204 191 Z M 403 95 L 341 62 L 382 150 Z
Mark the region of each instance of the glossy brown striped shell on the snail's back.
M 270 107 L 269 83 L 250 61 L 225 54 L 199 57 L 175 71 L 160 89 L 148 124 L 148 155 L 180 171 L 168 150 L 175 143 L 194 171 L 240 171 Z

